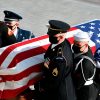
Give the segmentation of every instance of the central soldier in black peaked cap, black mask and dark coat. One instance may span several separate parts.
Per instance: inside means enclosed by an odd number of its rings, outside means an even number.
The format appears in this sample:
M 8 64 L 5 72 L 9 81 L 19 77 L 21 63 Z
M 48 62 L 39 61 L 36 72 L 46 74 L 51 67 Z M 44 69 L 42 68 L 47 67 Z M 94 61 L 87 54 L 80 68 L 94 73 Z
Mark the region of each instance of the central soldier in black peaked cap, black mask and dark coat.
M 44 95 L 41 100 L 76 100 L 71 71 L 73 56 L 71 45 L 66 40 L 70 25 L 59 20 L 49 20 L 50 46 L 44 58 Z

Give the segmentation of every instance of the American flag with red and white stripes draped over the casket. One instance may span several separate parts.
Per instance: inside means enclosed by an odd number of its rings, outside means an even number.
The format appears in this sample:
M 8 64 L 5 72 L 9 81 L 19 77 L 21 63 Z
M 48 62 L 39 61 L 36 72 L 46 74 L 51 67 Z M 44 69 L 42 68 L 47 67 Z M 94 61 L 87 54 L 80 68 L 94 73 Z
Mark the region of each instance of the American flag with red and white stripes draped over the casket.
M 94 20 L 74 26 L 67 32 L 66 38 L 72 44 L 73 34 L 81 30 L 87 31 L 91 39 L 98 43 L 96 45 L 98 47 L 99 24 L 99 20 Z M 89 45 L 94 53 L 96 48 L 92 40 Z M 43 56 L 49 45 L 48 36 L 44 35 L 0 48 L 0 99 L 15 97 L 40 80 Z

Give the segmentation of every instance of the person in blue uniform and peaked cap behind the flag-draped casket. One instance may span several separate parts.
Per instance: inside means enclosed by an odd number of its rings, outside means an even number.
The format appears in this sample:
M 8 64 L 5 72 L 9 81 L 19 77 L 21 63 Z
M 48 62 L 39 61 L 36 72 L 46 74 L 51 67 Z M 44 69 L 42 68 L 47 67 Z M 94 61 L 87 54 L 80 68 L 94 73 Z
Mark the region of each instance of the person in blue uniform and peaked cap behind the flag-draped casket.
M 35 37 L 30 31 L 19 28 L 19 21 L 22 20 L 20 15 L 8 10 L 5 10 L 4 14 L 4 22 L 12 30 L 17 42 Z

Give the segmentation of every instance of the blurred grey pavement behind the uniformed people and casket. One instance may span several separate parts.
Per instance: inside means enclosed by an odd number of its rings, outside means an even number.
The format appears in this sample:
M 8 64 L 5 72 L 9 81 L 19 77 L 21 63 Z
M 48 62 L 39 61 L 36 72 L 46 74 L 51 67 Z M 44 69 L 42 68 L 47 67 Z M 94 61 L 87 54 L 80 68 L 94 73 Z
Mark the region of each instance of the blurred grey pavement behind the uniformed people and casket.
M 51 19 L 71 26 L 100 19 L 100 0 L 0 0 L 1 21 L 4 10 L 21 15 L 20 27 L 41 36 L 46 34 L 46 24 Z

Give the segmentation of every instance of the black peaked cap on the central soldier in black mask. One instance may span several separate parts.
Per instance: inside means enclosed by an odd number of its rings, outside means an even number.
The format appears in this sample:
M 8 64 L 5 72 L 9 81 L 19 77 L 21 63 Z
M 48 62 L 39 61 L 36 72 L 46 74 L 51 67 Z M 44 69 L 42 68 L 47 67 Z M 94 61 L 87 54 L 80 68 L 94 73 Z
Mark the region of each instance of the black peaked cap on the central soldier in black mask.
M 49 20 L 48 35 L 65 33 L 70 29 L 70 25 L 59 20 Z

